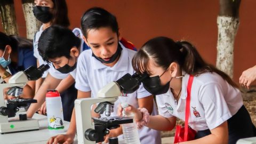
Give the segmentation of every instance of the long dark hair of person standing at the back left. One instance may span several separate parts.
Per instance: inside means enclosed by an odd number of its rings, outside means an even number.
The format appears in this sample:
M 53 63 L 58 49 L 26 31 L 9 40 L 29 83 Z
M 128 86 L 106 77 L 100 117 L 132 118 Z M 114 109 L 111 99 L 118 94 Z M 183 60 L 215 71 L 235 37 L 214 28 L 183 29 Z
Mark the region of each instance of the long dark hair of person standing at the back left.
M 68 27 L 70 25 L 68 19 L 68 6 L 65 0 L 52 0 L 53 6 L 53 19 L 52 25 L 60 25 Z

